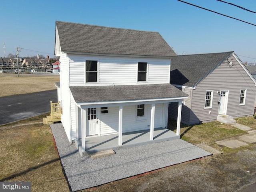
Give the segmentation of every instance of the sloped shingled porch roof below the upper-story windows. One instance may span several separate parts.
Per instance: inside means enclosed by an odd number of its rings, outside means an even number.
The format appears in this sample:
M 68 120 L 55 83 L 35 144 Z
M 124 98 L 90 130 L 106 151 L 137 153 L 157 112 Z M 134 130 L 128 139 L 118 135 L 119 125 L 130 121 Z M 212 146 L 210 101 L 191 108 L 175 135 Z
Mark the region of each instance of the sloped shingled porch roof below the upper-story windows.
M 77 103 L 177 98 L 188 96 L 171 84 L 70 86 L 69 88 Z

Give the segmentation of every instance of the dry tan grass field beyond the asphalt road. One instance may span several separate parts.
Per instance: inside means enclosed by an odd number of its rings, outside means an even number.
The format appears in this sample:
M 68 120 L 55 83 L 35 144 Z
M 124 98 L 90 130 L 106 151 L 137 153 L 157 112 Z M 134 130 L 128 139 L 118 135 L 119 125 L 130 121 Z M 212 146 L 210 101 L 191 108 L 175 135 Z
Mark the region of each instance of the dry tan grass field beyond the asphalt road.
M 56 89 L 54 82 L 59 82 L 58 74 L 34 75 L 34 74 L 1 74 L 0 97 L 33 93 Z

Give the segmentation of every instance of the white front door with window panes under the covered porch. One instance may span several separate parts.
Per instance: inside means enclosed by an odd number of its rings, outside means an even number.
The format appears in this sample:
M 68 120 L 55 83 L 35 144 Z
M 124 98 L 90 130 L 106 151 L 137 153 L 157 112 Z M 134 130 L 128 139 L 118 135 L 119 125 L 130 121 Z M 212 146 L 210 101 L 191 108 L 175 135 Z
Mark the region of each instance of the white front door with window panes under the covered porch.
M 88 129 L 86 131 L 86 136 L 98 135 L 98 108 L 88 108 L 87 119 L 88 119 Z

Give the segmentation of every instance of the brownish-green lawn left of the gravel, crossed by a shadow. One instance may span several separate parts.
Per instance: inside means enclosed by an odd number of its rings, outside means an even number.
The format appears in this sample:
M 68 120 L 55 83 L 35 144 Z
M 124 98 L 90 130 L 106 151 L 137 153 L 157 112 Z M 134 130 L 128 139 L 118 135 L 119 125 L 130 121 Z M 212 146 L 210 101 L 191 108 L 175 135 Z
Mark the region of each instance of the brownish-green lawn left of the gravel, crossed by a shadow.
M 69 191 L 50 126 L 0 130 L 0 181 L 32 182 L 32 191 Z

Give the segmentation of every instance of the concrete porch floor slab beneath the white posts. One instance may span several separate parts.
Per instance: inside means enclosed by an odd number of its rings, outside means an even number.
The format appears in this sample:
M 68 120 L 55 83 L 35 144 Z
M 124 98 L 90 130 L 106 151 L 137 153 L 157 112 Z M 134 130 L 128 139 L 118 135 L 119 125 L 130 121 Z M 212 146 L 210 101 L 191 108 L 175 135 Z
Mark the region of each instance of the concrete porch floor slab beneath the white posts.
M 118 150 L 122 148 L 130 148 L 135 146 L 142 146 L 162 141 L 169 141 L 179 139 L 180 135 L 167 128 L 155 128 L 154 139 L 149 140 L 150 130 L 140 130 L 122 134 L 122 145 L 118 145 L 118 134 L 111 134 L 105 136 L 86 137 L 85 151 L 87 153 L 95 153 L 104 150 Z M 76 147 L 80 154 L 82 154 L 82 139 L 76 140 Z

